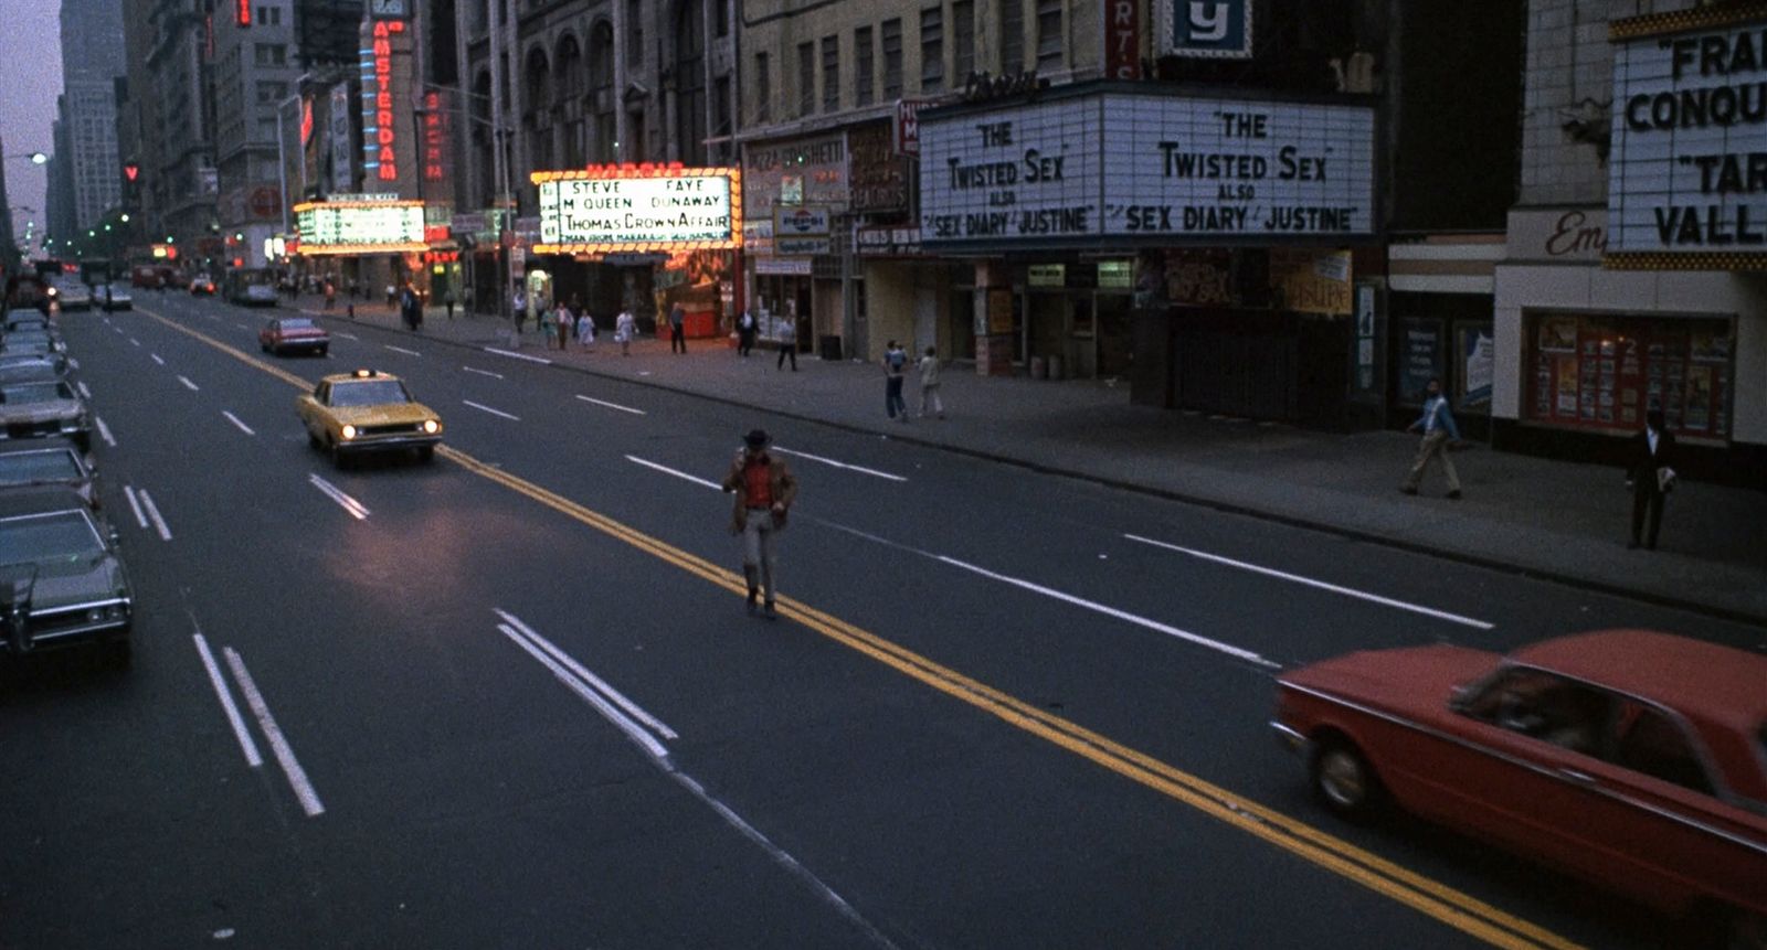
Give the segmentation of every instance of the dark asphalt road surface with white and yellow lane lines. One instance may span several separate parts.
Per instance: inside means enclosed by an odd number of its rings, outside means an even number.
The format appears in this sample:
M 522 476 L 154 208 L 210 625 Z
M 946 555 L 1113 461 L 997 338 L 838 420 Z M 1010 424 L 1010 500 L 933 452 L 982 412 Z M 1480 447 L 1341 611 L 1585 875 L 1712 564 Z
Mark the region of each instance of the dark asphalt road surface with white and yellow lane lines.
M 350 321 L 329 358 L 269 357 L 265 316 L 143 293 L 62 320 L 136 662 L 0 680 L 0 946 L 1675 936 L 1332 819 L 1272 675 L 1758 629 Z M 442 415 L 433 463 L 307 445 L 297 387 L 362 366 Z M 802 484 L 772 622 L 716 489 L 756 426 Z

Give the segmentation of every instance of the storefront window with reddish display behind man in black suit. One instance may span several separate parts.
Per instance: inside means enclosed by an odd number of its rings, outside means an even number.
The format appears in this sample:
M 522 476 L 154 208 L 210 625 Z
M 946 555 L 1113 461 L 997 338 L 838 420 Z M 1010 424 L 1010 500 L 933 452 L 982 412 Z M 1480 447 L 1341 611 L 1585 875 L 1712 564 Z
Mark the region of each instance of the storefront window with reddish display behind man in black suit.
M 1730 438 L 1730 320 L 1530 314 L 1525 327 L 1530 420 L 1633 433 L 1661 408 L 1684 436 Z

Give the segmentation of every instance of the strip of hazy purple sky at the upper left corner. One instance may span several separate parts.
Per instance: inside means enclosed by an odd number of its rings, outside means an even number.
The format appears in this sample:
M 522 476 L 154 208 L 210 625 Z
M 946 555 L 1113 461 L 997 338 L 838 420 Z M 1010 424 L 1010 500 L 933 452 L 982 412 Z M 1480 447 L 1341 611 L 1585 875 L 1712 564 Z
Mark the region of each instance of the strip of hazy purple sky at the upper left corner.
M 60 0 L 0 0 L 0 138 L 7 155 L 55 152 L 55 97 L 62 94 L 60 14 Z M 32 214 L 42 235 L 46 171 L 25 159 L 5 159 L 12 208 L 35 208 L 12 215 L 19 237 Z

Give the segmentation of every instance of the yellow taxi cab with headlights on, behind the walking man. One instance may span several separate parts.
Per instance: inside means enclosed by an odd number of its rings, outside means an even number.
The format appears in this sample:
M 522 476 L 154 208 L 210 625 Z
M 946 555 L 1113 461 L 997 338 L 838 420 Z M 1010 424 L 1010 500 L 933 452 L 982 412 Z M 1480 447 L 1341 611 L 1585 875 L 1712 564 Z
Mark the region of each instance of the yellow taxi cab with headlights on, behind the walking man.
M 398 376 L 378 369 L 325 376 L 295 399 L 295 411 L 307 441 L 339 468 L 353 456 L 408 449 L 429 461 L 442 441 L 442 417 L 412 399 Z

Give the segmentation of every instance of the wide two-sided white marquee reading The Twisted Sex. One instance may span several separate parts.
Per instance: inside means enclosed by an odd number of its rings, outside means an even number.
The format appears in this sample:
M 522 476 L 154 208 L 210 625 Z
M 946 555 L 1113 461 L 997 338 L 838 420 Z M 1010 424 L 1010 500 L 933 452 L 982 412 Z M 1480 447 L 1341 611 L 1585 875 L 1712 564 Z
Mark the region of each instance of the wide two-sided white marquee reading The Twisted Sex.
M 1127 92 L 921 120 L 928 249 L 1318 244 L 1375 230 L 1375 113 Z

